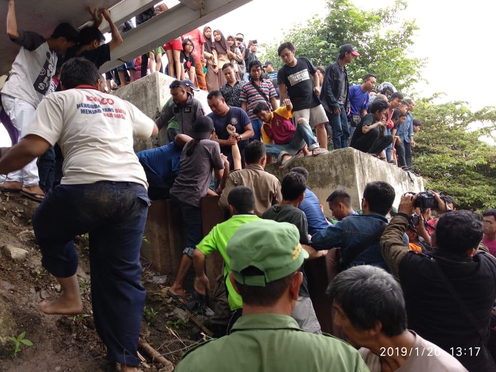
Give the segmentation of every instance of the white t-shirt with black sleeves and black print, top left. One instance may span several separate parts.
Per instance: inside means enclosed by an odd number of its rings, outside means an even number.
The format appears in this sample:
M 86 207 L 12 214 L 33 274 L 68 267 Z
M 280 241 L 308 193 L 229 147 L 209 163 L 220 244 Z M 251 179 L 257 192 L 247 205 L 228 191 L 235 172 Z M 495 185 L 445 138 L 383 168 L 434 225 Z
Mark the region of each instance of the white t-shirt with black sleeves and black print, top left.
M 21 49 L 1 93 L 19 98 L 35 108 L 47 94 L 57 66 L 57 53 L 51 51 L 43 36 L 19 30 L 15 44 Z

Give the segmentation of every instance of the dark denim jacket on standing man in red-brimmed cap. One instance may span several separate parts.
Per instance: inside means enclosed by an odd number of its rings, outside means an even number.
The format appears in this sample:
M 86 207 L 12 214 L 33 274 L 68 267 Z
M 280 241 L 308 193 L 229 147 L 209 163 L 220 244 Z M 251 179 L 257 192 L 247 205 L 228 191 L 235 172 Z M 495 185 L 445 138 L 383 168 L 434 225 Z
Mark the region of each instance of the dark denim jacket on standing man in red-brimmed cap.
M 341 95 L 343 84 L 345 84 L 346 91 L 344 107 L 347 107 L 350 84 L 348 82 L 346 66 L 341 69 L 341 65 L 337 61 L 329 64 L 325 69 L 324 81 L 320 88 L 320 101 L 324 109 L 329 113 L 332 113 L 334 109 L 339 107 L 338 99 Z

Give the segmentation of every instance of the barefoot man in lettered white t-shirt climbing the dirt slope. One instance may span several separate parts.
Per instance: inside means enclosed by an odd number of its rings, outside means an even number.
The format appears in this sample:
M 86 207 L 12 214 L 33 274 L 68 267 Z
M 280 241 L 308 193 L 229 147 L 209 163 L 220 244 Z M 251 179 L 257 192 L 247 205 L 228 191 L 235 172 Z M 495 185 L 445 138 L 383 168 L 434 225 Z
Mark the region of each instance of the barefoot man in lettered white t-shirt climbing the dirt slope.
M 49 191 L 33 216 L 43 266 L 62 296 L 42 302 L 47 314 L 83 309 L 76 277 L 76 235 L 89 232 L 91 295 L 98 335 L 107 358 L 121 371 L 136 371 L 145 289 L 139 250 L 149 199 L 133 136 L 158 133 L 153 120 L 129 102 L 98 90 L 93 62 L 73 58 L 62 65 L 62 92 L 45 97 L 26 134 L 0 158 L 0 174 L 20 169 L 59 143 L 61 185 Z

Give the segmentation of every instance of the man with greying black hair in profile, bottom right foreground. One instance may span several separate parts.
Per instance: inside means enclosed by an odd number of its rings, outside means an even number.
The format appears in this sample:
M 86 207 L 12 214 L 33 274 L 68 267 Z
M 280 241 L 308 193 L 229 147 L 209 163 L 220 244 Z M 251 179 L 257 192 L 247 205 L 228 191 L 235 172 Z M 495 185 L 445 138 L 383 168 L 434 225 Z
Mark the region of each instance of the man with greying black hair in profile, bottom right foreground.
M 355 347 L 371 372 L 466 372 L 453 356 L 407 329 L 401 286 L 384 269 L 354 266 L 327 289 L 334 324 Z M 474 352 L 474 358 L 476 350 Z

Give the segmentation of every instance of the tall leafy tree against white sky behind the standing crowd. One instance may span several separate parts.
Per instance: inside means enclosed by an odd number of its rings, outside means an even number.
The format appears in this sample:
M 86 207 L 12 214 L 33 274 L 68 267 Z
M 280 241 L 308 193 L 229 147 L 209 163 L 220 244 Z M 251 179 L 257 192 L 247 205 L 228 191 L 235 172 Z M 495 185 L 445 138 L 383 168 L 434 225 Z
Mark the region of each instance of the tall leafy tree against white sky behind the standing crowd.
M 336 60 L 341 45 L 351 43 L 360 53 L 347 66 L 351 84 L 360 84 L 365 74 L 373 73 L 378 82 L 389 81 L 398 90 L 405 90 L 420 79 L 425 60 L 406 56 L 418 28 L 414 20 L 398 20 L 398 13 L 407 7 L 406 1 L 396 0 L 391 7 L 374 10 L 361 10 L 350 0 L 329 0 L 327 6 L 325 18 L 315 16 L 307 24 L 296 24 L 284 34 L 284 40 L 264 45 L 263 60 L 280 68 L 277 47 L 283 41 L 291 41 L 297 56 L 306 56 L 325 68 Z

